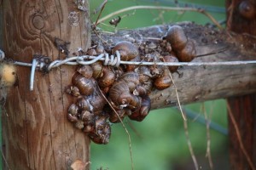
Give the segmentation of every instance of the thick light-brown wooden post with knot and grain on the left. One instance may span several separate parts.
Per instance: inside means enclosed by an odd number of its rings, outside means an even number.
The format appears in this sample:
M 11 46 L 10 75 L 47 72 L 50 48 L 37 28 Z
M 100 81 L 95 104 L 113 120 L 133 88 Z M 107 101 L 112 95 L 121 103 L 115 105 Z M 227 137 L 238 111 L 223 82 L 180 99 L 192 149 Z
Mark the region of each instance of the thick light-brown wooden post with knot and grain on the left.
M 67 49 L 73 54 L 90 46 L 87 1 L 1 2 L 1 48 L 11 59 L 32 63 L 33 54 L 64 59 Z M 70 169 L 76 160 L 89 165 L 90 139 L 67 121 L 72 98 L 64 88 L 70 84 L 73 71 L 72 66 L 61 66 L 49 74 L 36 71 L 30 91 L 31 68 L 17 67 L 19 85 L 10 89 L 6 113 L 2 114 L 5 167 Z

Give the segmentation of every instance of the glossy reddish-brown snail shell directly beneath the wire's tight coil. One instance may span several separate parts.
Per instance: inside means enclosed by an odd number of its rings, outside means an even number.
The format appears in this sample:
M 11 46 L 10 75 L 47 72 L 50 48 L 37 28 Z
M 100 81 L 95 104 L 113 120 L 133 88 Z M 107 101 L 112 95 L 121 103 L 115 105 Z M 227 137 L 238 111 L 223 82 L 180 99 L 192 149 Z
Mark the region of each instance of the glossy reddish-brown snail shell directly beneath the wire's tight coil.
M 107 66 L 103 68 L 103 76 L 99 78 L 98 84 L 101 88 L 111 86 L 115 80 L 115 74 Z

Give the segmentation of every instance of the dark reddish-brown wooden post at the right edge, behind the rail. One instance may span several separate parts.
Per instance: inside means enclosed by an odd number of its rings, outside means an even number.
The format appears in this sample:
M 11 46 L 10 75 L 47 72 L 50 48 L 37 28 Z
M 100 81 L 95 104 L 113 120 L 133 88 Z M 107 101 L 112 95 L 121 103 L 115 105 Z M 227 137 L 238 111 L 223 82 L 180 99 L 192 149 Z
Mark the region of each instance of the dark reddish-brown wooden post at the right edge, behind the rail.
M 228 0 L 227 27 L 236 33 L 256 35 L 256 1 Z M 229 116 L 230 169 L 255 169 L 256 167 L 256 94 L 228 99 L 230 114 L 234 116 L 241 135 L 237 136 L 236 125 Z M 241 146 L 241 142 L 243 147 Z M 245 154 L 247 152 L 247 154 Z M 246 156 L 247 155 L 247 156 Z M 250 162 L 251 161 L 251 162 Z

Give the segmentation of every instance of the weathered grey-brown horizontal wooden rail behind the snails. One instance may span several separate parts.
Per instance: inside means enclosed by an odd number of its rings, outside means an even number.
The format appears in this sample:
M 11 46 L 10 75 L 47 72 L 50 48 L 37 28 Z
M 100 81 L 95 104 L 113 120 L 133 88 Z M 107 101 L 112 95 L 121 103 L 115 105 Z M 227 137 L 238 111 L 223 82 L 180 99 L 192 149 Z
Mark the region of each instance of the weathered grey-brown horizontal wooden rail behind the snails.
M 187 37 L 195 42 L 197 57 L 192 62 L 221 62 L 256 59 L 256 38 L 249 35 L 236 35 L 229 31 L 217 31 L 206 26 L 197 26 L 186 22 L 179 23 Z M 141 46 L 144 43 L 159 43 L 166 35 L 168 26 L 118 31 L 115 34 L 100 32 L 92 35 L 92 42 L 102 42 L 105 48 L 120 41 L 129 41 Z M 172 77 L 177 86 L 181 104 L 208 99 L 220 99 L 230 96 L 256 92 L 256 67 L 251 65 L 207 65 L 182 66 Z M 181 76 L 182 75 L 182 76 Z M 152 108 L 177 105 L 174 86 L 165 90 L 153 90 L 150 94 Z

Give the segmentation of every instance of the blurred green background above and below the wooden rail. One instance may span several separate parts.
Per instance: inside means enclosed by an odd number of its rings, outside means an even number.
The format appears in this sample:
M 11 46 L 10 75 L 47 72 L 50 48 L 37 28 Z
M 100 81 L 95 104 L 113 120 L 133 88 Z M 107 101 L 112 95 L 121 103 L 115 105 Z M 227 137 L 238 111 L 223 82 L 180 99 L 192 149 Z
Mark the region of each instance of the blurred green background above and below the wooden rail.
M 103 1 L 90 0 L 89 2 L 91 20 L 96 21 L 99 13 L 93 14 L 93 11 Z M 178 3 L 171 0 L 108 0 L 101 18 L 121 8 L 133 5 L 169 7 L 189 5 L 206 8 L 216 20 L 225 20 L 224 1 L 222 0 L 187 0 L 178 1 Z M 117 28 L 110 27 L 109 20 L 105 21 L 104 25 L 99 25 L 99 27 L 103 31 L 116 31 L 180 21 L 193 21 L 201 25 L 212 24 L 211 20 L 205 15 L 195 12 L 137 9 L 125 14 L 119 14 L 121 17 L 125 17 L 122 18 Z M 184 106 L 186 110 L 189 110 L 189 139 L 198 164 L 201 169 L 210 169 L 206 157 L 207 127 L 201 109 L 203 106 L 213 122 L 210 129 L 213 167 L 214 169 L 227 169 L 229 160 L 227 115 L 224 99 Z M 188 142 L 183 128 L 183 118 L 177 108 L 150 111 L 143 122 L 131 122 L 128 119 L 125 119 L 124 122 L 125 127 L 131 134 L 132 156 L 136 170 L 195 169 L 189 154 Z M 129 141 L 121 124 L 112 125 L 112 136 L 109 144 L 91 144 L 91 169 L 131 169 Z

